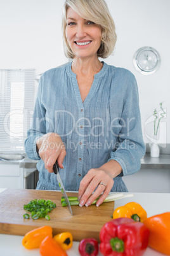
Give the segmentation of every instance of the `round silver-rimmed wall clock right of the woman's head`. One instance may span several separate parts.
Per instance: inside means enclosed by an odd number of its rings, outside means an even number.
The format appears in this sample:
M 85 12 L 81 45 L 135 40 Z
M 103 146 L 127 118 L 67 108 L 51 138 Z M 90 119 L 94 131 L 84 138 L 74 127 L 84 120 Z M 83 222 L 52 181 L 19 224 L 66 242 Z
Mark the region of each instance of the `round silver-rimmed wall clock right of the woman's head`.
M 141 47 L 134 53 L 133 64 L 141 74 L 153 74 L 160 66 L 159 53 L 152 47 Z

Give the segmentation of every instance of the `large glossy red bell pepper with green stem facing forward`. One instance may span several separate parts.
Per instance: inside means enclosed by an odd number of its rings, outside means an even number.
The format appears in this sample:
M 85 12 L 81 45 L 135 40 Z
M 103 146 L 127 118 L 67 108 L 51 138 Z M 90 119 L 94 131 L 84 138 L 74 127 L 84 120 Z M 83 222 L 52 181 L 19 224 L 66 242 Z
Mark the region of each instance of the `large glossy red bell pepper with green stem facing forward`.
M 107 256 L 141 256 L 148 246 L 149 231 L 131 218 L 116 218 L 100 231 L 100 252 Z

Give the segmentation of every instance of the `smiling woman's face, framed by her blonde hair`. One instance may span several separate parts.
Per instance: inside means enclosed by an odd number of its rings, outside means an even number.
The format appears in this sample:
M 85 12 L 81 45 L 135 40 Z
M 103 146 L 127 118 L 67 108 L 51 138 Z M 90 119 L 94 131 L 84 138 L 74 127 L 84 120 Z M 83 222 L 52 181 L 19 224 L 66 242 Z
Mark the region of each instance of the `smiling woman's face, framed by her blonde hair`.
M 67 41 L 75 57 L 97 56 L 101 45 L 101 26 L 79 16 L 72 8 L 67 10 Z

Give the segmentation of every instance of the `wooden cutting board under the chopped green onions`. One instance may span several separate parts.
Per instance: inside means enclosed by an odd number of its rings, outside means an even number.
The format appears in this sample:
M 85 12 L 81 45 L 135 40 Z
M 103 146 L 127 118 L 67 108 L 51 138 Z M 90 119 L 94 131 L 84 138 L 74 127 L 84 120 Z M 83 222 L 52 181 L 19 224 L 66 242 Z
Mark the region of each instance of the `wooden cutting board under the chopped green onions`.
M 77 193 L 67 193 L 68 196 L 77 196 Z M 0 233 L 25 235 L 26 232 L 50 225 L 53 228 L 53 235 L 60 232 L 69 231 L 72 233 L 74 241 L 81 241 L 83 238 L 96 238 L 98 241 L 101 227 L 112 220 L 114 212 L 114 202 L 103 203 L 99 207 L 91 205 L 89 207 L 72 206 L 73 216 L 70 215 L 67 207 L 62 207 L 60 203 L 61 192 L 47 190 L 22 190 L 7 189 L 0 194 Z M 25 220 L 23 205 L 28 204 L 32 199 L 51 200 L 56 203 L 49 216 L 51 220 L 40 218 Z

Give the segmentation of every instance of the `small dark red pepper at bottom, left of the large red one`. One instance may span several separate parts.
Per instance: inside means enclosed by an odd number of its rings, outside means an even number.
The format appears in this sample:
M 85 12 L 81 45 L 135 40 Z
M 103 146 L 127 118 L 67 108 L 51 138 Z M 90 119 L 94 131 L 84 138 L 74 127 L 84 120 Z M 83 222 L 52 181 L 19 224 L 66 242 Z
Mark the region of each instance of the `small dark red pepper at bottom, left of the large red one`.
M 81 256 L 98 255 L 98 241 L 95 238 L 85 238 L 79 243 L 79 253 Z

